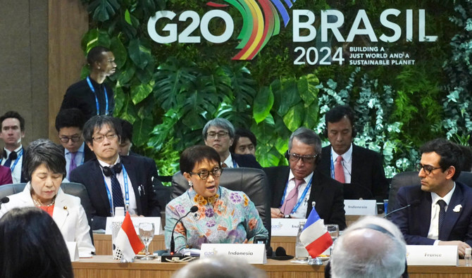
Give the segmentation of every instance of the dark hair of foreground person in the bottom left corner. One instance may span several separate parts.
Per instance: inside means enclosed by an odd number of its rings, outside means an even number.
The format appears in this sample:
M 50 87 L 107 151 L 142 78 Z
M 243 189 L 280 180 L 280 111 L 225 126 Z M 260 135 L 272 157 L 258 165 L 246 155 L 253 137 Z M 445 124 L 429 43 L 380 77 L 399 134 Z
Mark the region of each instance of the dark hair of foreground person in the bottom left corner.
M 0 277 L 74 277 L 66 241 L 48 213 L 13 208 L 1 217 Z

